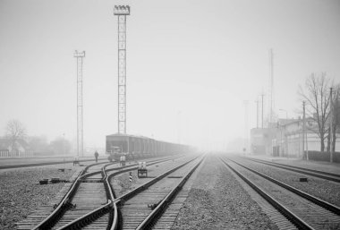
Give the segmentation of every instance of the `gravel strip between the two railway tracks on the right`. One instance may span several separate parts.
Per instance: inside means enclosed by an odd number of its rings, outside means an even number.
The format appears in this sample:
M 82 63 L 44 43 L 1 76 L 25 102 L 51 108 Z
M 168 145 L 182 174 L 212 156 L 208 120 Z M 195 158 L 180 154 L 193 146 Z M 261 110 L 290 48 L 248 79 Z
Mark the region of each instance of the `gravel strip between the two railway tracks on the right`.
M 237 160 L 239 162 L 239 160 Z M 299 173 L 289 172 L 285 169 L 280 169 L 275 166 L 268 166 L 252 161 L 241 160 L 243 165 L 249 166 L 252 169 L 259 171 L 264 175 L 273 177 L 274 179 L 287 183 L 294 188 L 307 192 L 321 200 L 326 200 L 329 203 L 340 207 L 340 183 L 330 182 L 319 179 L 311 175 L 302 175 Z M 307 177 L 308 182 L 300 182 L 300 177 Z

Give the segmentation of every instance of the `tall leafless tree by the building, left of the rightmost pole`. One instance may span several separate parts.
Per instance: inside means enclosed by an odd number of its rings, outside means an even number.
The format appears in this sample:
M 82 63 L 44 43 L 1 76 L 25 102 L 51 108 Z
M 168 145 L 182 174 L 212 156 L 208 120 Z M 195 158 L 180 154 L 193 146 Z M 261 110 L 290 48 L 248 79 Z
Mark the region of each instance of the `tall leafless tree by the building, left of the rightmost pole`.
M 320 138 L 320 151 L 325 151 L 325 139 L 329 126 L 327 119 L 329 116 L 329 88 L 332 85 L 331 80 L 327 77 L 326 72 L 322 72 L 319 76 L 311 73 L 306 79 L 304 91 L 300 86 L 299 94 L 303 100 L 306 100 L 306 110 L 311 119 L 317 124 L 317 129 L 312 129 L 319 135 Z

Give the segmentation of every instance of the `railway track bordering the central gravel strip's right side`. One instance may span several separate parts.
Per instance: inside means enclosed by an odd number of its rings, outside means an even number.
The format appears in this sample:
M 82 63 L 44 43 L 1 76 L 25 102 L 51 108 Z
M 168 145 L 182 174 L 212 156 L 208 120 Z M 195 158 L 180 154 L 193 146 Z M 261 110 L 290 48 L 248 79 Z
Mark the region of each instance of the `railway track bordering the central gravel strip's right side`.
M 339 229 L 340 208 L 228 158 L 230 168 L 299 229 Z M 276 220 L 276 225 L 280 225 Z

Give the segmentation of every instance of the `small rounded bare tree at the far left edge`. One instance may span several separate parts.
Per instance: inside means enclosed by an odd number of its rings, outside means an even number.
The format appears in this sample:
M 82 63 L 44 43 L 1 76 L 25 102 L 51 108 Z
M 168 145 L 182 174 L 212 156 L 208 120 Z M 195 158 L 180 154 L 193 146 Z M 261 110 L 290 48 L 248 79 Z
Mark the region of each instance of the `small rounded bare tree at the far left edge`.
M 18 120 L 11 120 L 5 127 L 5 135 L 11 141 L 12 151 L 18 150 L 17 143 L 26 137 L 26 129 Z

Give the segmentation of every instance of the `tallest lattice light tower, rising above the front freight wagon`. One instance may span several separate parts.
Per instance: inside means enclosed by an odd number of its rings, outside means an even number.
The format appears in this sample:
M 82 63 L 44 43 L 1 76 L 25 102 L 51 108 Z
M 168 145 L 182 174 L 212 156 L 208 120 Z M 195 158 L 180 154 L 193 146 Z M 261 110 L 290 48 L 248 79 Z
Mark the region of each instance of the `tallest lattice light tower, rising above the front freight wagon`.
M 126 15 L 129 5 L 115 5 L 118 16 L 118 133 L 126 133 Z

